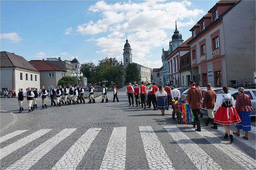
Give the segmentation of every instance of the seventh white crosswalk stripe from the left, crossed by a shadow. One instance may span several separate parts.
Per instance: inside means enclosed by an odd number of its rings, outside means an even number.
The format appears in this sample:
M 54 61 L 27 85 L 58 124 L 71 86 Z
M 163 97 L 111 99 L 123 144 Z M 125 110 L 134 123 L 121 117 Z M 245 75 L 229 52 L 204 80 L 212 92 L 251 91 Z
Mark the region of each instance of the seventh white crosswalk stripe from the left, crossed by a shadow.
M 164 126 L 198 169 L 221 169 L 214 160 L 176 126 Z

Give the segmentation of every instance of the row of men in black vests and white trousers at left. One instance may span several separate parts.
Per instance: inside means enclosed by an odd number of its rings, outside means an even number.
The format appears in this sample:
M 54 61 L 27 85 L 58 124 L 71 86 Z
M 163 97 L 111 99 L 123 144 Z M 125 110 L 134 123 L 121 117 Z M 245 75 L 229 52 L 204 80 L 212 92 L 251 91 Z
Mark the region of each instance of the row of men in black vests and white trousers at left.
M 50 107 L 61 107 L 61 103 L 64 106 L 67 105 L 71 105 L 71 100 L 72 100 L 72 104 L 76 105 L 76 104 L 85 104 L 84 101 L 84 88 L 81 85 L 77 85 L 75 87 L 72 87 L 71 85 L 68 86 L 67 85 L 63 85 L 64 87 L 57 86 L 56 89 L 53 88 L 53 86 L 51 86 L 51 90 L 49 91 L 49 97 L 51 98 L 51 106 Z M 116 88 L 116 87 L 115 87 Z M 89 102 L 88 103 L 95 103 L 95 99 L 93 97 L 93 87 L 92 84 L 89 84 Z M 33 91 L 31 90 L 30 87 L 28 87 L 28 92 L 22 92 L 21 89 L 19 89 L 19 92 L 17 93 L 17 98 L 18 98 L 18 104 L 20 107 L 19 113 L 21 113 L 24 108 L 22 107 L 22 102 L 24 100 L 24 96 L 27 96 L 27 102 L 28 102 L 28 113 L 32 112 L 34 109 L 37 109 L 37 104 L 36 104 L 36 100 L 38 98 L 38 93 L 42 94 L 42 109 L 47 108 L 47 105 L 45 103 L 45 99 L 46 96 L 48 95 L 47 90 L 45 89 L 44 85 L 42 86 L 42 89 L 40 90 L 36 90 L 36 88 L 33 88 Z M 57 105 L 54 101 L 54 95 L 56 94 L 56 98 L 57 98 Z M 62 100 L 62 95 L 64 94 L 64 101 Z M 69 100 L 68 100 L 68 94 L 70 94 L 69 96 Z M 107 99 L 107 87 L 102 87 L 102 102 L 104 100 L 104 98 L 106 98 L 106 102 L 108 102 Z M 80 103 L 79 101 L 80 100 Z M 83 103 L 82 103 L 83 101 Z M 33 102 L 33 107 L 32 107 L 32 102 Z M 64 104 L 65 102 L 65 104 Z

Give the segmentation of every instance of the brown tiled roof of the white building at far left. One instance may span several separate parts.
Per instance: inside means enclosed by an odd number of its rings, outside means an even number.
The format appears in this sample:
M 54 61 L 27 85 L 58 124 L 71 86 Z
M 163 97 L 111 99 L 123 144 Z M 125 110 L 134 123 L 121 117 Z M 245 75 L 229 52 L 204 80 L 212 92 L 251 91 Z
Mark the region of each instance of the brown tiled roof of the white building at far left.
M 10 53 L 8 51 L 1 51 L 0 67 L 18 67 L 21 69 L 37 71 L 24 57 Z

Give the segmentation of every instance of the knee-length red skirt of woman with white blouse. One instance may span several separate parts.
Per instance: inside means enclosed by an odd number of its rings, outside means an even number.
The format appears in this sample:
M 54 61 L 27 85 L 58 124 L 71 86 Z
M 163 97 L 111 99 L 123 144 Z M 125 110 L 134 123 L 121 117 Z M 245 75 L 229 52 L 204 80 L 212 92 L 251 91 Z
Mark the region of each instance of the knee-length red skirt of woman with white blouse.
M 235 107 L 219 107 L 214 115 L 214 122 L 219 124 L 234 124 L 241 122 Z

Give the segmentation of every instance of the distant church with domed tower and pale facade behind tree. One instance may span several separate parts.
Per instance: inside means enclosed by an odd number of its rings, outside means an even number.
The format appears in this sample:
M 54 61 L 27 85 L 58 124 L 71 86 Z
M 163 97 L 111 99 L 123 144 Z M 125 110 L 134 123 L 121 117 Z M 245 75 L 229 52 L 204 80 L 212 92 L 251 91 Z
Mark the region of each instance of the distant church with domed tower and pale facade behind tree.
M 125 69 L 128 66 L 128 64 L 133 63 L 132 62 L 132 48 L 131 48 L 131 45 L 128 43 L 127 39 L 126 39 L 126 43 L 124 44 L 123 50 L 124 50 L 123 60 L 124 60 L 124 69 Z M 140 81 L 151 82 L 150 68 L 140 65 L 140 64 L 137 64 L 137 68 L 140 72 L 140 75 L 139 75 Z M 125 83 L 125 77 L 123 77 L 123 84 L 124 83 Z

